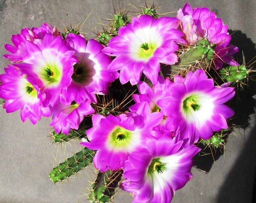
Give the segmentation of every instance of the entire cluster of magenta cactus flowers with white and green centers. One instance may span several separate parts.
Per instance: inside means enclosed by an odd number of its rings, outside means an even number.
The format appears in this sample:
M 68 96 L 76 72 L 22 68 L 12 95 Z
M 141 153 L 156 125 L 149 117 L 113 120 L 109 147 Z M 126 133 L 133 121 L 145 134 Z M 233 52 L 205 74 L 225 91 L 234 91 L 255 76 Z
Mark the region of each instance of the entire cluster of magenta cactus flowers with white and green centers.
M 175 64 L 179 44 L 206 38 L 216 45 L 216 69 L 223 62 L 238 65 L 232 56 L 238 48 L 229 44 L 227 29 L 208 8 L 188 4 L 177 18 L 134 17 L 107 47 L 72 33 L 62 39 L 48 24 L 23 29 L 12 37 L 13 45 L 5 45 L 10 54 L 4 57 L 13 64 L 0 75 L 0 97 L 6 112 L 21 109 L 23 122 L 52 115 L 57 133 L 78 129 L 84 116 L 93 114 L 89 142 L 81 144 L 97 150 L 95 167 L 121 168 L 120 187 L 133 193 L 134 202 L 170 202 L 192 178 L 192 158 L 200 151 L 194 144 L 228 127 L 234 112 L 224 103 L 235 91 L 214 85 L 201 69 L 173 81 L 163 78 L 160 63 Z M 142 74 L 152 85 L 140 81 Z M 117 78 L 138 84 L 135 104 L 118 116 L 94 114 L 96 95 L 108 94 Z

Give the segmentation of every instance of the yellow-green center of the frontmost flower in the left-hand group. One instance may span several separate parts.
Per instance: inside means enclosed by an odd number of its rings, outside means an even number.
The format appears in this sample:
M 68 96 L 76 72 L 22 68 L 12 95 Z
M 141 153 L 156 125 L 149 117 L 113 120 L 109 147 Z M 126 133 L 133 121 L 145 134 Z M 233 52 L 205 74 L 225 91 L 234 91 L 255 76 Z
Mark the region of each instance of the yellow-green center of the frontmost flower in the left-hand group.
M 56 64 L 48 64 L 44 69 L 44 79 L 49 83 L 56 83 L 61 78 L 61 72 Z

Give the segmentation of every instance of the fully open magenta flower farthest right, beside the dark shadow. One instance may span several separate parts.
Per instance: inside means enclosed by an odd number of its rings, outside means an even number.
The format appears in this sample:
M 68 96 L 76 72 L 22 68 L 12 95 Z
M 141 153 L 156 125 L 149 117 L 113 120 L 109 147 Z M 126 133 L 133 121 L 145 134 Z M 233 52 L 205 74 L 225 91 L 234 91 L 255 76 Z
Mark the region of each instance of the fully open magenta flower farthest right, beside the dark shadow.
M 169 90 L 171 96 L 159 99 L 157 104 L 168 116 L 166 125 L 176 128 L 177 140 L 189 138 L 193 144 L 199 137 L 209 139 L 213 131 L 228 127 L 226 119 L 234 111 L 224 103 L 234 96 L 233 87 L 214 86 L 213 79 L 200 69 L 185 78 L 175 76 Z

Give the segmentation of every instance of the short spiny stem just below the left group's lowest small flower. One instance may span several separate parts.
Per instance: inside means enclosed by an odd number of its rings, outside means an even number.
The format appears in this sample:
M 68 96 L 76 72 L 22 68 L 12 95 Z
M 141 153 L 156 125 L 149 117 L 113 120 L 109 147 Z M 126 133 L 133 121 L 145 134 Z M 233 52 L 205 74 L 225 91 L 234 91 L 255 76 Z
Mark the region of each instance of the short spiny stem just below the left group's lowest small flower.
M 86 130 L 84 129 L 71 130 L 68 135 L 64 133 L 57 134 L 55 131 L 52 132 L 52 138 L 55 143 L 68 142 L 73 138 L 82 139 L 84 137 L 86 137 Z

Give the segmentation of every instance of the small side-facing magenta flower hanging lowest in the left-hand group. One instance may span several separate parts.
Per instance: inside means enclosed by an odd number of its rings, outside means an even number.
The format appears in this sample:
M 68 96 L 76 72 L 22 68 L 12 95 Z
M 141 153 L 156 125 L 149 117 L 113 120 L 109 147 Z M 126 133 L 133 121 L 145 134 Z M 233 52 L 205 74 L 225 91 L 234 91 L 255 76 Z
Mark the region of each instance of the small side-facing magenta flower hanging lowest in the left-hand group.
M 83 101 L 76 103 L 73 101 L 71 105 L 63 105 L 60 102 L 54 107 L 50 106 L 52 114 L 52 122 L 50 126 L 53 126 L 56 133 L 69 134 L 71 129 L 78 129 L 80 123 L 83 121 L 84 116 L 94 113 L 94 109 L 91 107 L 90 101 Z

